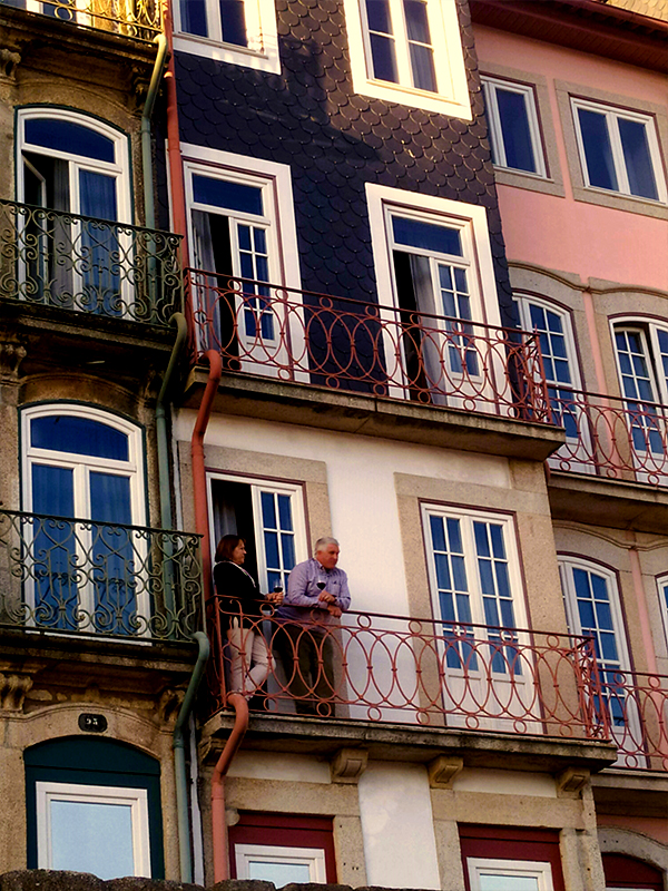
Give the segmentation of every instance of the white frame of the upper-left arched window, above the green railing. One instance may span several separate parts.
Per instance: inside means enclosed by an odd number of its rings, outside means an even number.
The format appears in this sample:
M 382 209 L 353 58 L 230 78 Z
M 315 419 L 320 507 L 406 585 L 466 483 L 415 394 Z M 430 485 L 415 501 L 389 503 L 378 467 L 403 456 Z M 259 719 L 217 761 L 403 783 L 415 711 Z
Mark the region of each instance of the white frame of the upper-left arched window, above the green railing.
M 97 158 L 89 158 L 84 155 L 70 155 L 67 151 L 61 151 L 56 148 L 45 148 L 43 146 L 31 146 L 26 141 L 26 121 L 35 119 L 69 121 L 78 124 L 81 127 L 87 127 L 95 130 L 100 135 L 107 137 L 114 143 L 115 161 L 99 160 Z M 33 154 L 47 155 L 49 157 L 66 160 L 69 165 L 69 188 L 70 188 L 70 208 L 69 213 L 81 215 L 80 199 L 79 199 L 79 178 L 77 173 L 81 169 L 92 170 L 95 173 L 114 176 L 116 179 L 116 200 L 117 200 L 117 223 L 132 223 L 132 200 L 131 200 L 131 149 L 130 139 L 127 134 L 118 130 L 110 124 L 107 124 L 99 118 L 76 111 L 71 108 L 62 108 L 59 106 L 28 106 L 19 108 L 17 111 L 17 177 L 16 177 L 16 194 L 17 200 L 22 202 L 24 197 L 24 177 L 23 164 L 27 159 L 23 158 L 23 151 L 28 150 Z M 29 163 L 29 161 L 28 161 Z M 72 207 L 75 205 L 75 207 Z M 67 212 L 62 212 L 67 213 Z

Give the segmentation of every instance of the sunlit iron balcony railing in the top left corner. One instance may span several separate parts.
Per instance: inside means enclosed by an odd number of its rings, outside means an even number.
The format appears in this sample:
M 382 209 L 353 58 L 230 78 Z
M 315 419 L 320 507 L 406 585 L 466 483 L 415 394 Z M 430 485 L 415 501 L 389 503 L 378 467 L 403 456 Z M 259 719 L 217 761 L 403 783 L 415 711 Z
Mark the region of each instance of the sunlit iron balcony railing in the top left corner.
M 158 0 L 0 0 L 9 7 L 39 12 L 81 28 L 153 40 L 163 30 L 161 3 Z

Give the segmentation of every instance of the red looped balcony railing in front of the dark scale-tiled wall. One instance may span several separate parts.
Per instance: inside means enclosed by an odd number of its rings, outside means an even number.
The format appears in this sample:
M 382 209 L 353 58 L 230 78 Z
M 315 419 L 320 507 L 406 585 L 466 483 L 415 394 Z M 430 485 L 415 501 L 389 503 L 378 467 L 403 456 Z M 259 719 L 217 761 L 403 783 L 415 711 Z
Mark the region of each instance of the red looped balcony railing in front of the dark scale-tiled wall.
M 190 270 L 196 352 L 232 371 L 552 423 L 538 337 Z

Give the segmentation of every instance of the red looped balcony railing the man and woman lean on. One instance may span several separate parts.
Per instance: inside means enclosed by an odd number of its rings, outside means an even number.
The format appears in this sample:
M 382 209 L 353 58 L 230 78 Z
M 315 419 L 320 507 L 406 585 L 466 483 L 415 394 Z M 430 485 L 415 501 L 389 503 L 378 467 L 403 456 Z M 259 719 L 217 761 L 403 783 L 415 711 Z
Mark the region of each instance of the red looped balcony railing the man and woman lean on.
M 212 714 L 226 704 L 230 650 L 220 629 L 232 618 L 239 614 L 224 613 L 217 597 L 209 601 Z M 249 630 L 262 635 L 262 650 L 271 654 L 284 634 L 281 624 L 248 621 Z M 302 675 L 293 644 L 287 664 L 271 659 L 267 681 L 250 707 L 292 713 L 310 706 L 316 716 L 559 738 L 610 737 L 589 638 L 369 613 L 347 613 L 343 623 L 304 626 L 301 634 L 316 653 L 315 676 Z M 324 674 L 326 642 L 333 647 L 331 685 Z M 244 693 L 252 694 L 253 687 Z

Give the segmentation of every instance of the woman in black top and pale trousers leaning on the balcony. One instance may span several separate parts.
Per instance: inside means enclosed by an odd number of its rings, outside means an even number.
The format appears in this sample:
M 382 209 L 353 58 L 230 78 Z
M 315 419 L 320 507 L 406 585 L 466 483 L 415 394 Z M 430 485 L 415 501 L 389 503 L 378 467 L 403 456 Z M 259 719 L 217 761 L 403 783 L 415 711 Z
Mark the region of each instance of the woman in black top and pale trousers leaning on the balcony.
M 244 569 L 246 542 L 239 536 L 223 536 L 216 548 L 214 581 L 223 610 L 223 629 L 230 649 L 230 693 L 249 699 L 272 669 L 272 656 L 262 634 L 262 605 L 281 604 L 283 594 L 264 597 L 253 576 Z

